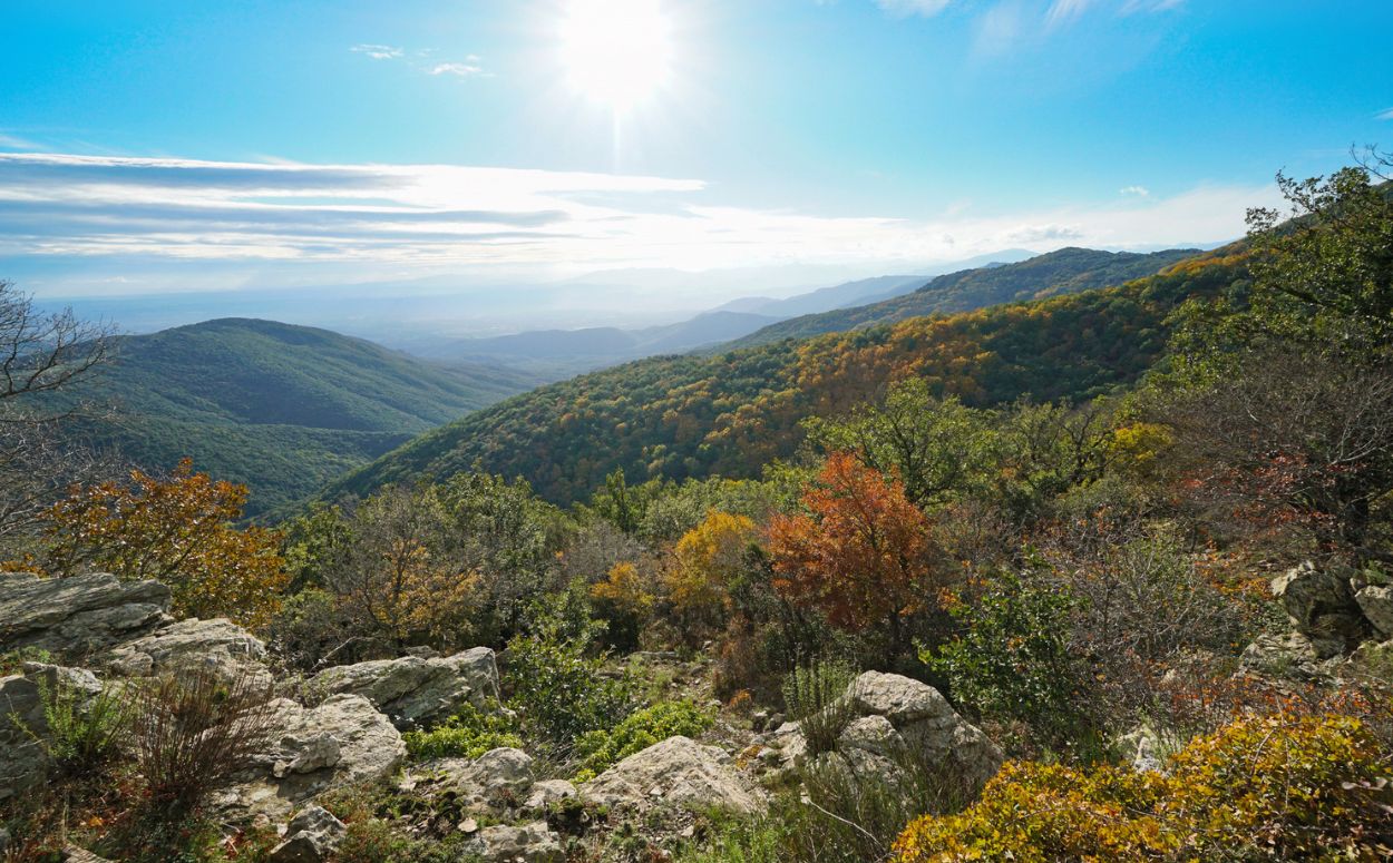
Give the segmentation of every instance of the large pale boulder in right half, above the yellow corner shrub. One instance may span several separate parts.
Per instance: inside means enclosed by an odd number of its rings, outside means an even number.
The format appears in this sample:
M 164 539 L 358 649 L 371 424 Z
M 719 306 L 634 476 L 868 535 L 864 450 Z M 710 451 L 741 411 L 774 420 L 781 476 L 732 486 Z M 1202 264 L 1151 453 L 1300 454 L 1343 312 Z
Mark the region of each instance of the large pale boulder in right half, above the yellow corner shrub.
M 996 743 L 928 683 L 868 671 L 847 686 L 843 697 L 853 713 L 837 741 L 843 754 L 859 750 L 892 761 L 911 757 L 928 767 L 942 767 L 974 791 L 995 777 L 1006 760 Z

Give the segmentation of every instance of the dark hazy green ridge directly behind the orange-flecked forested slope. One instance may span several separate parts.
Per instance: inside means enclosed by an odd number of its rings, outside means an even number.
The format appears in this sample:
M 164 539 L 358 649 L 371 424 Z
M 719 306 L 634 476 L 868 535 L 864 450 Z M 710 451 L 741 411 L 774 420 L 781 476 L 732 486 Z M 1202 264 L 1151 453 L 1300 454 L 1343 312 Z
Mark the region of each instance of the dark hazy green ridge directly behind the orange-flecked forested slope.
M 733 340 L 723 348 L 745 348 L 780 338 L 844 333 L 857 327 L 894 323 L 924 315 L 951 315 L 985 309 L 1003 302 L 1077 294 L 1159 273 L 1177 260 L 1197 253 L 1198 249 L 1172 249 L 1142 255 L 1067 248 L 1017 263 L 958 270 L 939 276 L 917 291 L 890 296 L 880 302 L 779 322 Z

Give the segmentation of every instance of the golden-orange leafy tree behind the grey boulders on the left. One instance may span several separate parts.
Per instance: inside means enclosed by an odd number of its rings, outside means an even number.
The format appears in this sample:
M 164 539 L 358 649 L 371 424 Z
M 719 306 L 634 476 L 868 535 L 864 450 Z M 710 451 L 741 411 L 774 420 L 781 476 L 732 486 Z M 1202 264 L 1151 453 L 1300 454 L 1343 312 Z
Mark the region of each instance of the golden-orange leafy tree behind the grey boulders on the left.
M 245 502 L 245 486 L 194 473 L 189 459 L 169 479 L 132 470 L 130 483 L 74 487 L 45 516 L 46 568 L 156 579 L 180 617 L 256 628 L 280 607 L 287 575 L 279 533 L 234 526 Z

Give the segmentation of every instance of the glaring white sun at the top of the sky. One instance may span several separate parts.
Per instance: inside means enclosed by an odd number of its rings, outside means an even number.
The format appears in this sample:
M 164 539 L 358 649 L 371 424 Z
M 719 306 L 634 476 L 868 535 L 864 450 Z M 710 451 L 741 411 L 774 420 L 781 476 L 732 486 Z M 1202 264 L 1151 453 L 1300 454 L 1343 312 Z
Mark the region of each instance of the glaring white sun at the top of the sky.
M 660 0 L 567 0 L 561 54 L 570 85 L 623 114 L 671 75 L 671 22 Z

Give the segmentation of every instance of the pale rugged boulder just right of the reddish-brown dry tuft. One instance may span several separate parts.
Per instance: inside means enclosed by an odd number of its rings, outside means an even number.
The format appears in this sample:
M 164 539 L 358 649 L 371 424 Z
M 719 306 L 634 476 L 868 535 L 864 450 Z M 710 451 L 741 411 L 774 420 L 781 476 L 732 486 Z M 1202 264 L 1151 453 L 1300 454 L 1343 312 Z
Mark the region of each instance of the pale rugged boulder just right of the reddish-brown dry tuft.
M 230 818 L 283 820 L 330 788 L 390 777 L 407 757 L 401 734 L 362 696 L 336 695 L 312 710 L 280 699 L 273 710 L 267 750 L 215 800 Z

